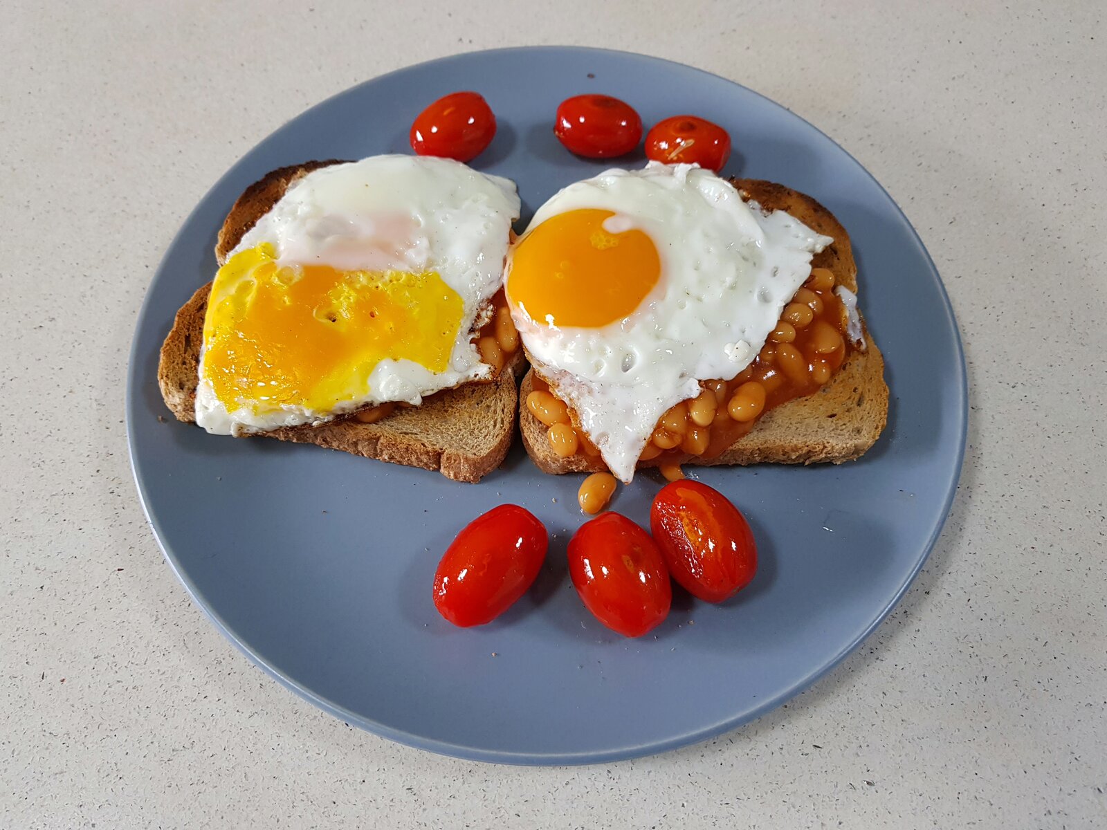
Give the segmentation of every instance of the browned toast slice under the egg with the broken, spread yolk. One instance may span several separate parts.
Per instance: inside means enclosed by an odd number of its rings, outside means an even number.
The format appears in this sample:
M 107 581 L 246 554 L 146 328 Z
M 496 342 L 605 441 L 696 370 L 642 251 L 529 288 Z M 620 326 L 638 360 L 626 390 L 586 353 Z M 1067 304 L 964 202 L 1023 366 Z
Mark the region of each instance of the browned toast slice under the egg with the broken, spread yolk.
M 238 198 L 219 231 L 216 260 L 223 264 L 242 235 L 268 212 L 284 190 L 310 170 L 337 162 L 309 162 L 282 167 L 250 185 Z M 195 422 L 204 315 L 211 283 L 197 289 L 173 323 L 162 345 L 157 382 L 166 406 L 178 421 Z M 515 436 L 518 406 L 516 375 L 524 364 L 523 350 L 489 383 L 469 383 L 424 400 L 422 405 L 397 407 L 374 424 L 342 418 L 319 426 L 296 426 L 257 435 L 281 440 L 318 444 L 365 458 L 437 470 L 456 481 L 479 481 L 496 469 Z

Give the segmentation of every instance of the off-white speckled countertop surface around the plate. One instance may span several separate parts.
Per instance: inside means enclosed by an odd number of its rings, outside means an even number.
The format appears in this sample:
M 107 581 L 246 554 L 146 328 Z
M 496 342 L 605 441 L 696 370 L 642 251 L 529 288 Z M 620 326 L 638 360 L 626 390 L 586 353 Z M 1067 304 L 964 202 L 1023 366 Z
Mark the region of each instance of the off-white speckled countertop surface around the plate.
M 1107 827 L 1098 3 L 38 6 L 0 3 L 0 827 Z M 747 728 L 601 767 L 441 758 L 263 676 L 164 564 L 123 427 L 145 287 L 240 154 L 524 43 L 690 62 L 814 122 L 918 228 L 969 359 L 960 494 L 877 634 Z

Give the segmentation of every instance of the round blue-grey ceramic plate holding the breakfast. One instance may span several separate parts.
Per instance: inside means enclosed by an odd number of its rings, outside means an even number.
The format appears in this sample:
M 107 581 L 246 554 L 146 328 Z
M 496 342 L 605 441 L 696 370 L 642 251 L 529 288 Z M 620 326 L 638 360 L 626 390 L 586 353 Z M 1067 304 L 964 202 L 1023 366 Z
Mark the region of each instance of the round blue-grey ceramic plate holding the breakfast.
M 888 428 L 840 467 L 704 469 L 749 519 L 754 582 L 713 606 L 681 594 L 651 635 L 623 640 L 573 592 L 565 548 L 579 476 L 540 474 L 516 445 L 479 485 L 275 440 L 205 434 L 168 417 L 156 383 L 174 312 L 216 270 L 216 231 L 266 172 L 312 158 L 406 153 L 427 103 L 482 92 L 499 131 L 475 166 L 515 179 L 526 222 L 558 188 L 610 166 L 551 133 L 570 95 L 603 92 L 652 124 L 695 113 L 734 138 L 726 173 L 813 195 L 849 230 L 861 307 L 883 350 Z M 642 157 L 620 159 L 637 166 Z M 161 419 L 158 416 L 166 416 Z M 127 430 L 135 479 L 166 558 L 215 624 L 265 671 L 350 724 L 438 753 L 513 764 L 648 755 L 710 738 L 810 685 L 868 635 L 938 538 L 965 439 L 965 372 L 942 283 L 903 214 L 841 147 L 721 77 L 635 54 L 508 49 L 394 72 L 309 110 L 236 164 L 169 246 L 138 319 Z M 659 483 L 614 507 L 648 525 Z M 477 630 L 435 612 L 431 582 L 454 535 L 515 501 L 554 535 L 535 588 Z

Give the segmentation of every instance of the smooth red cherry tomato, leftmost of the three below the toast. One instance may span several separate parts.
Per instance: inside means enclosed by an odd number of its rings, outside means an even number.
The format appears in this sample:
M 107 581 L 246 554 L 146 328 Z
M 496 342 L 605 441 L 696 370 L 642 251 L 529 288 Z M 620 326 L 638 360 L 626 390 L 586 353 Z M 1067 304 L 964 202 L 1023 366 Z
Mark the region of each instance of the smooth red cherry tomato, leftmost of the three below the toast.
M 527 592 L 549 538 L 534 513 L 500 505 L 466 525 L 438 562 L 434 606 L 454 625 L 484 625 Z

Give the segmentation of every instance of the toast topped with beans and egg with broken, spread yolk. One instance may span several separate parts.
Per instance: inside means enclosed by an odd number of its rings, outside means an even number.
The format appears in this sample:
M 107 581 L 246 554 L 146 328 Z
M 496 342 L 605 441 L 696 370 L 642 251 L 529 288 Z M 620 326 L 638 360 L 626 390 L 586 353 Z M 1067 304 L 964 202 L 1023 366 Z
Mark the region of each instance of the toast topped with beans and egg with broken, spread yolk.
M 445 158 L 270 173 L 176 315 L 166 404 L 209 433 L 479 480 L 515 434 L 521 355 L 500 287 L 518 215 L 513 183 Z

